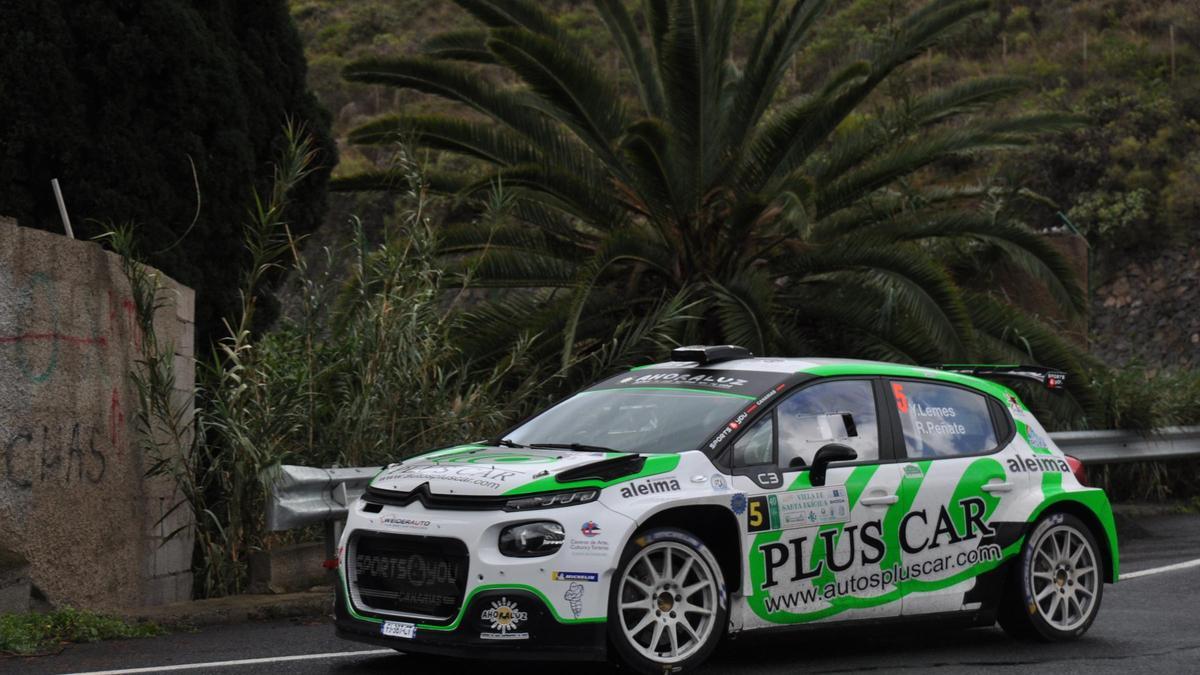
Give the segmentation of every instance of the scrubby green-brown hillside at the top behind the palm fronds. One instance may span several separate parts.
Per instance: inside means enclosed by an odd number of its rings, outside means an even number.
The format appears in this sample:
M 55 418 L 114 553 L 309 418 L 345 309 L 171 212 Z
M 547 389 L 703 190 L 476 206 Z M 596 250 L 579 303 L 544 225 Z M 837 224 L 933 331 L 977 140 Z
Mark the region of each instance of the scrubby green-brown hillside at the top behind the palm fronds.
M 739 25 L 752 25 L 767 4 L 744 1 Z M 616 62 L 590 2 L 546 5 L 578 36 L 581 48 Z M 917 5 L 836 2 L 799 59 L 805 70 L 793 72 L 793 85 L 828 71 L 847 46 L 887 40 L 894 22 Z M 448 0 L 293 0 L 292 12 L 306 44 L 310 83 L 340 135 L 401 106 L 414 112 L 437 104 L 412 92 L 347 83 L 340 74 L 347 62 L 415 53 L 434 32 L 473 25 Z M 1200 220 L 1198 54 L 1200 12 L 1192 1 L 997 0 L 985 17 L 910 65 L 883 96 L 904 100 L 952 78 L 1012 74 L 1031 82 L 1012 106 L 1087 115 L 1090 124 L 1054 143 L 971 171 L 980 181 L 1044 196 L 1026 207 L 1027 222 L 1078 228 L 1109 269 L 1129 251 L 1194 237 Z M 385 159 L 343 150 L 337 171 L 343 175 Z M 1103 274 L 1093 279 L 1099 281 Z

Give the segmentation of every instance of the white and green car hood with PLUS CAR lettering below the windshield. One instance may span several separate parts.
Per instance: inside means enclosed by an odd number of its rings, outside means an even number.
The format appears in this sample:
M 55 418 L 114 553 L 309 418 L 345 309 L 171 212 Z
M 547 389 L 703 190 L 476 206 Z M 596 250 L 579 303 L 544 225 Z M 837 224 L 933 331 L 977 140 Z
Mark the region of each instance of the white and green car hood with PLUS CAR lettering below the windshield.
M 569 488 L 569 484 L 558 484 L 554 478 L 564 471 L 631 456 L 635 455 L 460 446 L 389 465 L 374 477 L 371 486 L 409 492 L 428 483 L 430 492 L 438 495 L 527 494 L 540 491 L 535 488 L 542 484 L 546 490 Z

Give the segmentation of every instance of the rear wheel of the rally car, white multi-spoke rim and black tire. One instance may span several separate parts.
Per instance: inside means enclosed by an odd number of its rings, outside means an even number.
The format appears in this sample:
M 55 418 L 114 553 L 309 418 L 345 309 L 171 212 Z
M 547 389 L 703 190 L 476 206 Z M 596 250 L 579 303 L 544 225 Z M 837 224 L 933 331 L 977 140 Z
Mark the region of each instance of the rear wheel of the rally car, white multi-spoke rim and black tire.
M 1054 555 L 1063 548 L 1067 555 Z M 1026 537 L 1009 571 L 997 620 L 1015 638 L 1074 640 L 1096 621 L 1103 596 L 1104 558 L 1091 528 L 1069 513 L 1051 513 Z

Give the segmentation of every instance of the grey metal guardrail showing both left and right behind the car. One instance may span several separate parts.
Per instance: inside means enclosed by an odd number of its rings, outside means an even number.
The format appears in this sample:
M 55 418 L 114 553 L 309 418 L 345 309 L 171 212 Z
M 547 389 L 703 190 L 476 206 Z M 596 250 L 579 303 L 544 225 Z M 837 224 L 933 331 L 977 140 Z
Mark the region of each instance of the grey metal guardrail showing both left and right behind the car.
M 1050 434 L 1058 448 L 1085 465 L 1200 458 L 1200 426 L 1168 426 L 1135 431 L 1060 431 Z M 362 495 L 378 466 L 312 468 L 283 465 L 265 483 L 271 488 L 266 528 L 292 530 L 346 519 L 348 504 Z M 326 532 L 326 538 L 329 532 Z

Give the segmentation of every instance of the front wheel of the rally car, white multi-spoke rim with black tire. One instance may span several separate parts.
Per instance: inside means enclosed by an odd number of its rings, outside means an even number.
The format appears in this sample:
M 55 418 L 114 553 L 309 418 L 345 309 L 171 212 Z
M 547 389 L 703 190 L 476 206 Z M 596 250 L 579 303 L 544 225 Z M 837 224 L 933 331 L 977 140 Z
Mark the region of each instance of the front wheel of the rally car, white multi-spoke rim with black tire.
M 647 574 L 647 566 L 659 565 L 658 572 L 666 572 L 667 558 L 672 565 L 680 566 L 690 560 L 691 567 L 682 578 L 654 583 Z M 671 569 L 676 573 L 680 571 L 678 567 Z M 626 583 L 626 579 L 632 581 Z M 704 586 L 684 597 L 680 581 L 684 587 Z M 707 584 L 712 584 L 712 590 Z M 649 592 L 643 592 L 640 586 L 648 587 Z M 644 607 L 629 609 L 630 605 L 641 605 L 643 601 L 647 603 Z M 712 615 L 700 614 L 704 603 L 710 604 Z M 623 604 L 626 609 L 622 609 Z M 647 620 L 649 623 L 635 631 Z M 686 627 L 682 626 L 683 622 Z M 676 527 L 654 527 L 630 538 L 622 551 L 608 593 L 610 653 L 620 665 L 646 675 L 691 670 L 712 655 L 725 635 L 727 623 L 725 577 L 716 558 L 698 537 Z M 674 633 L 678 652 L 674 655 L 667 651 L 672 645 L 671 632 Z M 688 640 L 688 644 L 682 640 Z M 650 655 L 659 645 L 666 653 L 655 658 Z

